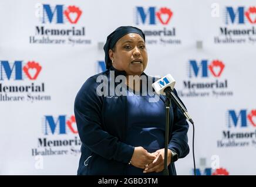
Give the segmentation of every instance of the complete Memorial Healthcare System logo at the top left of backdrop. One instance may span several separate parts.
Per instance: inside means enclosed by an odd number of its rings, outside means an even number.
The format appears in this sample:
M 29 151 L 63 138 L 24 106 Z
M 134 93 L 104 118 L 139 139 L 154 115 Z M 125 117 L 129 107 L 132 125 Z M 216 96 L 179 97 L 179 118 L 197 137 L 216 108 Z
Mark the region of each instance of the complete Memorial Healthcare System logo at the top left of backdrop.
M 29 36 L 30 44 L 88 45 L 86 27 L 80 20 L 83 11 L 76 5 L 36 4 L 35 33 Z

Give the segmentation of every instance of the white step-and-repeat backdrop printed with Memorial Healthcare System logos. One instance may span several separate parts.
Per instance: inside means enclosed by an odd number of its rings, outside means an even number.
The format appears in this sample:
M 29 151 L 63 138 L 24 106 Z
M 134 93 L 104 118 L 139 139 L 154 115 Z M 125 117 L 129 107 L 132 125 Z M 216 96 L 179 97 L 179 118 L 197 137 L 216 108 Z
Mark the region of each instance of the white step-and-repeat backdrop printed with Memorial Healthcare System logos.
M 197 175 L 255 175 L 256 2 L 210 0 L 1 1 L 0 175 L 76 175 L 76 93 L 127 25 L 146 34 L 145 72 L 177 81 Z M 193 175 L 192 133 L 178 175 Z

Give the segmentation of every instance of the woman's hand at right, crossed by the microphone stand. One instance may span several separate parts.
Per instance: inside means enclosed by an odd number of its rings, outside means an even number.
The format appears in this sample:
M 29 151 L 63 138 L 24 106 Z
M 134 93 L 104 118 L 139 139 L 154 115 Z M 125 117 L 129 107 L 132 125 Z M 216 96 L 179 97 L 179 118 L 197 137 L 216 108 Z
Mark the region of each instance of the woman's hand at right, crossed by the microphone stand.
M 156 159 L 145 167 L 143 173 L 161 172 L 164 169 L 164 148 L 157 150 L 152 154 L 156 155 Z M 171 150 L 168 149 L 167 165 L 169 165 L 170 163 L 171 163 Z

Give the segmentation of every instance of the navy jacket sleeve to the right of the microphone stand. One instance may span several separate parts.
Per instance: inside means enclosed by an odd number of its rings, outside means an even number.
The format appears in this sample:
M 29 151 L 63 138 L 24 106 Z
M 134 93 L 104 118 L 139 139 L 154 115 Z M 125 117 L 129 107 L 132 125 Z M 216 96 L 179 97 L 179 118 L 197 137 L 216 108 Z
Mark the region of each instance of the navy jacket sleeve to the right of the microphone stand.
M 178 98 L 177 91 L 174 89 L 174 94 Z M 180 100 L 180 98 L 178 98 Z M 180 100 L 181 103 L 183 103 Z M 183 115 L 180 109 L 178 109 L 177 105 L 174 102 L 171 102 L 173 105 L 173 129 L 170 132 L 170 141 L 168 148 L 171 150 L 176 151 L 178 154 L 178 158 L 184 158 L 189 153 L 188 147 L 188 138 L 187 138 L 187 131 L 188 131 L 188 123 L 186 117 Z

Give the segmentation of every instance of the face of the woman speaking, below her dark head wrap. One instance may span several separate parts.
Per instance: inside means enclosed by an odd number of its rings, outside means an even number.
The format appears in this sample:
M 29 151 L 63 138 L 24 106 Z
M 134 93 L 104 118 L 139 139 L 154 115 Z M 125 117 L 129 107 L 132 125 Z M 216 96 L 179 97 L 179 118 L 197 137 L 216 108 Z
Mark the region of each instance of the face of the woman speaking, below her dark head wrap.
M 109 50 L 113 67 L 127 75 L 140 75 L 147 66 L 147 50 L 140 34 L 129 33 L 120 38 Z

